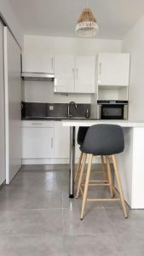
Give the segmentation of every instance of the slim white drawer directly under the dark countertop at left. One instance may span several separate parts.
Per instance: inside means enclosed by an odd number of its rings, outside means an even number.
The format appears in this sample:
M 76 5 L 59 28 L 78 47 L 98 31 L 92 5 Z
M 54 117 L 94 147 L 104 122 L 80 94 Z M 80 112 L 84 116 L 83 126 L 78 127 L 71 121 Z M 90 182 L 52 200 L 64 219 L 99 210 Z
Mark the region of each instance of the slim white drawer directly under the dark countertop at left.
M 23 120 L 22 127 L 54 127 L 54 121 L 47 121 L 47 120 Z

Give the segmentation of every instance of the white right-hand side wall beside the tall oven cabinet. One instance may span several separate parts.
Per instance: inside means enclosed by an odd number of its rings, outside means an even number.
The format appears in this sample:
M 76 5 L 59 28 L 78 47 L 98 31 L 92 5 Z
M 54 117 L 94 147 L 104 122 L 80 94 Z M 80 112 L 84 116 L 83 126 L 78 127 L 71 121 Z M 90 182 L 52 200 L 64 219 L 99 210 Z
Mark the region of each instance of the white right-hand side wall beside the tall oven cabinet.
M 131 55 L 129 118 L 144 121 L 144 16 L 125 36 L 122 50 Z

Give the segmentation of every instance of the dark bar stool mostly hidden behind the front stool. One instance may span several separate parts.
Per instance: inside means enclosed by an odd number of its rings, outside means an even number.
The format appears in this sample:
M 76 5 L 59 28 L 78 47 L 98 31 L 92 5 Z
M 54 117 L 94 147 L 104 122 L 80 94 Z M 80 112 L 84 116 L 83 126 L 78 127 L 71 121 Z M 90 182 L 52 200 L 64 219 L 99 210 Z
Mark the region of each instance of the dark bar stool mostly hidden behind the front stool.
M 82 146 L 83 143 L 84 143 L 84 138 L 85 138 L 85 135 L 88 131 L 89 127 L 85 127 L 85 126 L 80 126 L 78 128 L 78 137 L 77 137 L 77 142 L 78 142 L 78 145 L 79 146 Z M 78 177 L 78 173 L 80 171 L 80 166 L 81 166 L 81 163 L 82 163 L 82 159 L 83 159 L 83 152 L 81 151 L 80 152 L 80 156 L 79 156 L 79 160 L 78 160 L 78 167 L 77 167 L 77 170 L 76 170 L 76 173 L 75 173 L 75 177 L 74 177 L 74 183 L 76 182 L 77 180 L 77 177 Z

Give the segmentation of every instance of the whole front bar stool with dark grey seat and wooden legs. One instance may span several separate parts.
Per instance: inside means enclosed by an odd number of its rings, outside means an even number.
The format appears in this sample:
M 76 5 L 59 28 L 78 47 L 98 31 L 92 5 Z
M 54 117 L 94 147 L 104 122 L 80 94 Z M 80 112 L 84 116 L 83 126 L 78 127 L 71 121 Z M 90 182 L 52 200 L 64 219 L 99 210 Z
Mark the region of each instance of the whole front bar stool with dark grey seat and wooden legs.
M 84 184 L 81 219 L 84 218 L 84 207 L 85 207 L 86 201 L 121 201 L 123 212 L 124 212 L 124 218 L 128 218 L 125 202 L 124 202 L 122 185 L 121 185 L 120 177 L 118 174 L 118 166 L 115 158 L 115 154 L 119 154 L 124 151 L 124 132 L 122 127 L 120 127 L 119 125 L 90 126 L 84 138 L 84 143 L 80 149 L 84 157 L 83 157 L 83 163 L 82 163 L 79 180 L 78 180 L 77 198 L 78 198 L 79 190 L 81 189 L 86 156 L 87 154 L 89 154 L 89 164 L 88 164 L 88 169 L 87 169 L 86 179 Z M 107 174 L 108 174 L 109 187 L 110 187 L 110 192 L 112 197 L 110 199 L 87 198 L 88 188 L 89 188 L 89 177 L 91 172 L 92 159 L 94 155 L 106 156 Z M 118 183 L 118 195 L 119 195 L 118 198 L 113 198 L 113 196 L 117 193 L 117 190 L 114 188 L 112 184 L 112 174 L 111 174 L 111 168 L 109 163 L 110 156 L 112 157 L 113 169 L 114 169 L 115 177 Z

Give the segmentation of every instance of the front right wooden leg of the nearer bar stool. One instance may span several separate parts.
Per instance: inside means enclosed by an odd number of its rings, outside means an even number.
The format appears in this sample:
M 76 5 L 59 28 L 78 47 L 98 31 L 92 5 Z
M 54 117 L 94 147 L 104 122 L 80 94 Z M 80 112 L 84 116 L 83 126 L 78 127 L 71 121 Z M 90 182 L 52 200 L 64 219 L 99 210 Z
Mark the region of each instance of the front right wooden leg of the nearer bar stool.
M 117 178 L 118 192 L 119 192 L 120 201 L 121 201 L 122 207 L 123 207 L 124 218 L 128 218 L 128 214 L 127 214 L 126 207 L 125 207 L 125 202 L 124 202 L 124 195 L 123 195 L 122 185 L 121 185 L 121 181 L 120 181 L 120 177 L 119 177 L 119 173 L 118 173 L 117 161 L 116 161 L 116 158 L 115 158 L 114 154 L 112 154 L 112 162 L 113 162 L 114 172 L 115 172 L 115 175 L 116 175 L 116 178 Z

